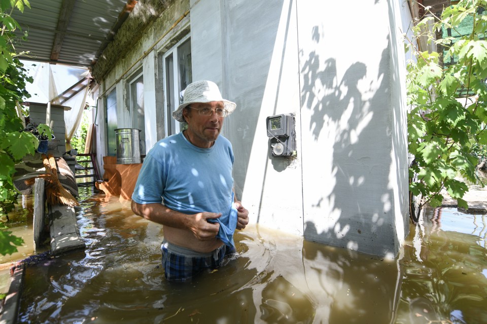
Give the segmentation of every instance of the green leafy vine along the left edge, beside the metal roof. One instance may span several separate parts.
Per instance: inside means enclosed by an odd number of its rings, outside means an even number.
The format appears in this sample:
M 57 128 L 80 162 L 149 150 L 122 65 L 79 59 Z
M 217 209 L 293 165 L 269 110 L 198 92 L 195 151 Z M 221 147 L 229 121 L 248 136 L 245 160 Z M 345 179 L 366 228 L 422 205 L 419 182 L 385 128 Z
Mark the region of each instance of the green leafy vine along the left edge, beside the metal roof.
M 15 164 L 22 161 L 27 154 L 35 153 L 39 145 L 36 136 L 30 132 L 21 132 L 24 126 L 17 109 L 18 102 L 30 95 L 25 90 L 25 83 L 32 82 L 26 76 L 23 64 L 16 58 L 14 31 L 19 24 L 11 17 L 13 10 L 23 12 L 24 6 L 30 8 L 27 0 L 0 0 L 0 218 L 13 208 L 17 200 L 17 191 L 12 182 Z M 24 37 L 26 35 L 24 34 Z M 44 124 L 39 126 L 42 134 L 50 136 L 51 130 Z M 4 230 L 5 222 L 0 221 L 0 254 L 12 254 L 23 243 L 21 238 Z

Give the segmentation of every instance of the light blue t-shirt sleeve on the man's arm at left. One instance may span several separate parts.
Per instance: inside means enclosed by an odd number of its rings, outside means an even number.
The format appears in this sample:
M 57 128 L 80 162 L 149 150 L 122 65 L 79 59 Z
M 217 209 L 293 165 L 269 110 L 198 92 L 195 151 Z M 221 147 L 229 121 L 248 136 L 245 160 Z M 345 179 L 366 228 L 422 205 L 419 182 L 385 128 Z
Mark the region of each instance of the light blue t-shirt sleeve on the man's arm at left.
M 132 200 L 139 204 L 152 204 L 162 202 L 164 168 L 152 155 L 144 159 L 141 172 L 132 194 Z

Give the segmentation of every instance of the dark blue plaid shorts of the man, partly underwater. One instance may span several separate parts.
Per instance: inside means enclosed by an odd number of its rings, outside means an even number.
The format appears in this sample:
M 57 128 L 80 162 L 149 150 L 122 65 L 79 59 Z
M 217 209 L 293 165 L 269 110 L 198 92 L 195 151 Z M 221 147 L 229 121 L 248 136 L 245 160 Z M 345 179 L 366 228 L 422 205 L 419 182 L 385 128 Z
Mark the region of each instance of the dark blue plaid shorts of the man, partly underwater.
M 235 247 L 222 245 L 210 253 L 199 253 L 189 248 L 162 241 L 162 266 L 168 281 L 191 281 L 205 269 L 221 266 L 223 258 L 234 254 Z

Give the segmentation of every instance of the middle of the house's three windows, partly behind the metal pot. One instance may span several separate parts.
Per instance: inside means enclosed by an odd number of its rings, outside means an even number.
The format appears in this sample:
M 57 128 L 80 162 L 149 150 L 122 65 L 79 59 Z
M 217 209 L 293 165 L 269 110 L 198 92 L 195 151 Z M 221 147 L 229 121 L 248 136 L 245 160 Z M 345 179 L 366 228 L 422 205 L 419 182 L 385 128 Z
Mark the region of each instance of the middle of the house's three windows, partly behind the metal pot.
M 139 130 L 141 155 L 146 154 L 146 126 L 144 120 L 144 78 L 141 74 L 129 82 L 129 102 L 132 128 Z

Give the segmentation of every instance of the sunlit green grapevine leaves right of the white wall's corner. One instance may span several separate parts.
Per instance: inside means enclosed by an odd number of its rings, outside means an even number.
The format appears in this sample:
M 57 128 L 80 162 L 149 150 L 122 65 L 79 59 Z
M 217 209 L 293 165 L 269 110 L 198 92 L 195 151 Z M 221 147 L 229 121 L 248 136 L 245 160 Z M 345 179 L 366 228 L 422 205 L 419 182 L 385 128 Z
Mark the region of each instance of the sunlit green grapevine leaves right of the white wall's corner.
M 416 57 L 407 65 L 408 149 L 414 156 L 409 190 L 426 198 L 423 205 L 441 205 L 444 189 L 460 207 L 468 208 L 462 199 L 468 191 L 463 179 L 479 181 L 478 160 L 472 153 L 487 144 L 485 8 L 486 0 L 460 1 L 445 8 L 440 17 L 426 17 L 414 27 L 415 38 L 430 41 L 435 30 L 452 30 L 452 36 L 436 41 L 444 48 L 448 64 L 440 63 L 437 52 L 421 52 L 409 40 Z M 457 29 L 466 20 L 471 21 L 467 33 Z M 434 26 L 432 32 L 423 32 L 427 25 Z

